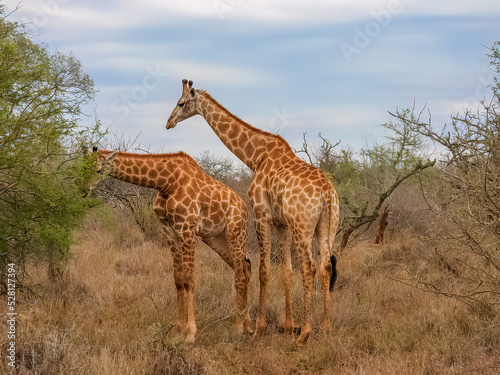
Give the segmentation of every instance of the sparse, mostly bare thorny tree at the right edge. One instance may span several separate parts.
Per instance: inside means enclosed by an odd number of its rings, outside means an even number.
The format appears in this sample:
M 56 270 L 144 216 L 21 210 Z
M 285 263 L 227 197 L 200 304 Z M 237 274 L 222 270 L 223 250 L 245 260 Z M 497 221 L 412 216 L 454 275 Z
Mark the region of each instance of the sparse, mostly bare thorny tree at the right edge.
M 500 42 L 490 49 L 490 63 L 500 74 Z M 437 168 L 445 194 L 423 189 L 432 211 L 445 227 L 445 245 L 436 248 L 443 270 L 455 282 L 438 287 L 412 275 L 416 286 L 444 294 L 484 311 L 500 305 L 500 81 L 494 79 L 491 99 L 481 100 L 436 127 L 423 111 L 397 111 L 395 118 L 414 134 L 439 145 Z M 443 190 L 443 188 L 441 188 Z

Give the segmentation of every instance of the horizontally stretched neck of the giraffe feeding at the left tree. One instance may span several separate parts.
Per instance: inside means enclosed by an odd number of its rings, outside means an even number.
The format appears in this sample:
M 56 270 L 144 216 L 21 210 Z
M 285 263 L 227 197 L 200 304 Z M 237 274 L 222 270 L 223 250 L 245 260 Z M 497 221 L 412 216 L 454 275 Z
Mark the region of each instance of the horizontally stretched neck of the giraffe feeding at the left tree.
M 174 179 L 171 159 L 167 154 L 149 156 L 120 153 L 113 160 L 111 175 L 118 180 L 165 191 Z

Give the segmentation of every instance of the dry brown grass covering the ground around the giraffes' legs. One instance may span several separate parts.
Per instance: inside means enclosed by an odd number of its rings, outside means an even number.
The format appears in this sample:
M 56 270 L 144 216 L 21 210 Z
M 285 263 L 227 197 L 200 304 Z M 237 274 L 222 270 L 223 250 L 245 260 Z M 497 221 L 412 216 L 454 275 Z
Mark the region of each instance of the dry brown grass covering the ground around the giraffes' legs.
M 103 224 L 104 223 L 104 224 Z M 394 236 L 393 236 L 394 237 Z M 333 330 L 318 330 L 315 293 L 311 341 L 298 348 L 280 333 L 283 297 L 273 273 L 267 335 L 255 342 L 233 333 L 232 271 L 210 250 L 197 250 L 198 336 L 185 345 L 175 322 L 171 258 L 120 215 L 92 215 L 79 230 L 74 258 L 44 298 L 18 304 L 19 374 L 495 374 L 498 316 L 471 313 L 460 302 L 396 279 L 425 274 L 443 280 L 431 251 L 408 235 L 387 245 L 358 243 L 340 257 L 333 292 Z M 258 254 L 251 315 L 258 297 Z M 301 281 L 295 273 L 297 307 Z M 6 301 L 0 301 L 6 306 Z M 3 309 L 2 309 L 3 311 Z M 296 319 L 300 311 L 297 308 Z M 2 353 L 6 334 L 0 332 Z M 2 355 L 2 366 L 5 366 Z

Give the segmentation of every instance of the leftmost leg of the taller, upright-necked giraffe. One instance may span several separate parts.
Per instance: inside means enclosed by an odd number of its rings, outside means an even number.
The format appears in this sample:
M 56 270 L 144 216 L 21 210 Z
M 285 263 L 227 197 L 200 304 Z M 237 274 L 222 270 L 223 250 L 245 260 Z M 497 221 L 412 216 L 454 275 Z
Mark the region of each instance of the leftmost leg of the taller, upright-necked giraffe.
M 257 214 L 255 217 L 259 217 Z M 255 230 L 260 247 L 260 265 L 259 265 L 259 311 L 257 322 L 255 323 L 255 338 L 259 338 L 264 333 L 266 328 L 266 312 L 267 312 L 267 289 L 269 286 L 269 273 L 271 269 L 271 225 L 270 221 L 264 217 L 260 217 L 255 221 Z

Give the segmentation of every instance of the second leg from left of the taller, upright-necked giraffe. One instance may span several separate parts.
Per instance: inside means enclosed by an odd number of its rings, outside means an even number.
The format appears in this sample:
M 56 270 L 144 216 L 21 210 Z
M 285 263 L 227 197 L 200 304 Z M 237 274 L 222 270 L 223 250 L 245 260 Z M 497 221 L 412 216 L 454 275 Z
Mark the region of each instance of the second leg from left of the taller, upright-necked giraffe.
M 278 226 L 276 229 L 278 230 L 278 236 L 280 239 L 281 278 L 283 280 L 283 289 L 285 293 L 285 333 L 293 333 L 295 322 L 293 320 L 292 302 L 290 296 L 290 289 L 293 281 L 291 254 L 292 237 L 288 227 Z

